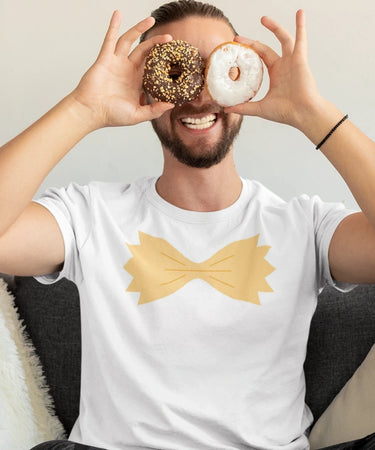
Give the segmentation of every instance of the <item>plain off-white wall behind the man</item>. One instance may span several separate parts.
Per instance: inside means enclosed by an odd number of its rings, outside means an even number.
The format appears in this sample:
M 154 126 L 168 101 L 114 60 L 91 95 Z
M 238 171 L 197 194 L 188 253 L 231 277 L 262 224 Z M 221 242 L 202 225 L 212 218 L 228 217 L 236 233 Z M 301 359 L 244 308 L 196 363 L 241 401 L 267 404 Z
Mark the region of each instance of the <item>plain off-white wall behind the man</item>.
M 113 10 L 122 11 L 125 31 L 161 3 L 1 0 L 0 142 L 21 132 L 75 87 L 97 56 Z M 373 0 L 211 3 L 227 13 L 240 34 L 277 50 L 277 41 L 261 26 L 260 17 L 270 15 L 294 33 L 295 12 L 305 9 L 310 64 L 321 92 L 375 138 Z M 285 199 L 317 193 L 327 201 L 344 201 L 348 207 L 356 207 L 335 169 L 291 127 L 245 118 L 235 155 L 242 176 L 262 181 Z M 70 181 L 131 181 L 159 174 L 161 168 L 161 150 L 150 124 L 100 130 L 76 146 L 39 192 Z

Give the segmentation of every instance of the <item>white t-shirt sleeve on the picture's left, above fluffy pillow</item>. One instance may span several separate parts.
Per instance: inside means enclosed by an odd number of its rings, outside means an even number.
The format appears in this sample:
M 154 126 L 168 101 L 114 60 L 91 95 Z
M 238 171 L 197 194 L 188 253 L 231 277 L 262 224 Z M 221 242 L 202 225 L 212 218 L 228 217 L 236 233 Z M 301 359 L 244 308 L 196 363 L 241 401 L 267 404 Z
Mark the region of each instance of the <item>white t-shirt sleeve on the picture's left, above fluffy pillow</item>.
M 61 272 L 35 278 L 43 284 L 51 284 L 61 278 L 79 283 L 83 278 L 80 249 L 87 241 L 92 223 L 89 186 L 72 183 L 67 188 L 48 189 L 34 201 L 47 208 L 56 219 L 65 248 Z

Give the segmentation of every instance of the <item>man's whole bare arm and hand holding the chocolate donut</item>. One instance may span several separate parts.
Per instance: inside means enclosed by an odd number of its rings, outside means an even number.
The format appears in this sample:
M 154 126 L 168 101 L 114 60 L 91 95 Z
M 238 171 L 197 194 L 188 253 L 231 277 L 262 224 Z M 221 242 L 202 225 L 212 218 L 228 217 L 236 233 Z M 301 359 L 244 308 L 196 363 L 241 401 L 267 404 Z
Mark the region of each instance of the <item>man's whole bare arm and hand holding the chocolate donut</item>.
M 120 23 L 120 13 L 115 12 L 100 54 L 77 88 L 0 148 L 0 272 L 40 275 L 62 267 L 65 252 L 59 226 L 32 198 L 77 142 L 98 128 L 133 125 L 173 107 L 142 102 L 145 57 L 153 45 L 171 36 L 154 36 L 131 50 L 154 19 L 143 20 L 118 38 Z

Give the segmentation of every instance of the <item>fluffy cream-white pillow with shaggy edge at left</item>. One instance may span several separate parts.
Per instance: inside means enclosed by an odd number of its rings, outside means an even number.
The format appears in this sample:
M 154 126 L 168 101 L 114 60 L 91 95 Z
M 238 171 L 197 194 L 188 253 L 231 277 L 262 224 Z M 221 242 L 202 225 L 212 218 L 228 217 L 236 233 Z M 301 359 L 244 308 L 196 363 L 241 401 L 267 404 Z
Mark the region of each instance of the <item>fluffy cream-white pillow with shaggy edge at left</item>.
M 0 278 L 0 448 L 26 450 L 64 438 L 32 343 Z

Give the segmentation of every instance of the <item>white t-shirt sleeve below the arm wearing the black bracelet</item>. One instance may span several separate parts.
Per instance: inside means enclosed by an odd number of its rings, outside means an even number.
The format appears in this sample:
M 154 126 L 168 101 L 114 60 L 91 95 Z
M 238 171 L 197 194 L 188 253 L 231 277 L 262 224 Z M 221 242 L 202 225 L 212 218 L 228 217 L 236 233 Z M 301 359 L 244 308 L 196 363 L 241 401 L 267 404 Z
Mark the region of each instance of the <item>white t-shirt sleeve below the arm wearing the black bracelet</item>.
M 342 203 L 323 202 L 318 196 L 312 197 L 312 205 L 319 290 L 328 284 L 339 291 L 350 291 L 355 285 L 337 282 L 332 278 L 328 251 L 332 236 L 340 222 L 356 211 L 346 209 Z

